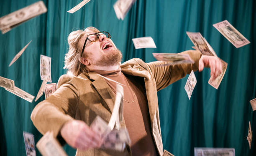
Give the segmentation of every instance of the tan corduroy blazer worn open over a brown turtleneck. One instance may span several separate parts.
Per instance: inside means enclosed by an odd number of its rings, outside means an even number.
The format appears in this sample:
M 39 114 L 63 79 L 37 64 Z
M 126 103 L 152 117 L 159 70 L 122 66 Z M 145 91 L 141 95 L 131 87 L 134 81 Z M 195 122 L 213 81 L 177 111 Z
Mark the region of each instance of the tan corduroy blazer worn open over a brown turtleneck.
M 197 70 L 198 61 L 201 57 L 201 53 L 196 50 L 188 50 L 182 52 L 182 54 L 189 54 L 195 64 L 158 66 L 164 62 L 145 63 L 141 59 L 135 58 L 121 65 L 124 74 L 144 77 L 152 135 L 160 156 L 163 154 L 163 144 L 157 91 L 185 77 L 191 70 Z M 61 127 L 70 120 L 82 120 L 90 126 L 93 119 L 99 115 L 108 122 L 114 102 L 115 94 L 105 82 L 105 79 L 98 76 L 97 73 L 82 73 L 77 77 L 62 75 L 59 78 L 56 92 L 36 105 L 31 114 L 31 120 L 41 134 L 53 131 L 54 136 L 58 136 Z M 121 126 L 125 126 L 124 119 Z M 130 146 L 127 146 L 124 152 L 109 149 L 90 149 L 87 151 L 77 150 L 76 154 L 76 156 L 128 155 L 131 156 Z

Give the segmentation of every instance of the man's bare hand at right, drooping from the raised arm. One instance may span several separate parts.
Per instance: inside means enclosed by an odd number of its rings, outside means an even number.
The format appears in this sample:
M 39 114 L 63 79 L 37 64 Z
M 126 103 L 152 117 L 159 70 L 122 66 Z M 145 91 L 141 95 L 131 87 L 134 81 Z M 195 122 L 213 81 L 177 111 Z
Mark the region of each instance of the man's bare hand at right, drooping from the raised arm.
M 218 57 L 202 55 L 199 60 L 199 72 L 202 72 L 204 67 L 210 67 L 211 77 L 214 80 L 222 72 L 222 63 Z

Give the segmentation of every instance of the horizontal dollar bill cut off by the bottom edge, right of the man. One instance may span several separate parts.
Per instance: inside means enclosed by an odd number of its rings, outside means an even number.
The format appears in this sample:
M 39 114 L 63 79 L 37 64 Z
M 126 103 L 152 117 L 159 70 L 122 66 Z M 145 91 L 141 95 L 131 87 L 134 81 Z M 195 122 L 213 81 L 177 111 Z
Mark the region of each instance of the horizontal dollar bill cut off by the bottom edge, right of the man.
M 235 156 L 233 148 L 195 148 L 195 156 Z

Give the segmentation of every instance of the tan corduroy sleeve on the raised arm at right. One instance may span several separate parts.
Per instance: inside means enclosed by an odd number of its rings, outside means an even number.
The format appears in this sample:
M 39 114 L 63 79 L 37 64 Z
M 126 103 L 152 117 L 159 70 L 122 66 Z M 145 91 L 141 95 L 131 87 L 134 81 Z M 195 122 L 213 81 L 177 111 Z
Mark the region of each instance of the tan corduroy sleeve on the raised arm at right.
M 201 52 L 198 50 L 187 50 L 179 54 L 189 54 L 194 64 L 175 64 L 171 66 L 159 66 L 165 64 L 164 61 L 156 61 L 148 63 L 149 68 L 155 78 L 157 91 L 164 89 L 169 84 L 172 84 L 179 79 L 182 79 L 186 74 L 190 74 L 198 70 L 198 62 L 201 58 Z

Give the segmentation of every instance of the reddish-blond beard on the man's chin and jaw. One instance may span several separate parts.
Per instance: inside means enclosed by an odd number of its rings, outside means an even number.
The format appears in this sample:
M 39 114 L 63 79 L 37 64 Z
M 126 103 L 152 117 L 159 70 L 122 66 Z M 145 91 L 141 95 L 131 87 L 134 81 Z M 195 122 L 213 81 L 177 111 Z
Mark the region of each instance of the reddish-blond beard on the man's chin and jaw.
M 113 66 L 117 65 L 121 61 L 122 57 L 123 55 L 121 51 L 118 49 L 114 49 L 108 53 L 102 53 L 100 59 L 93 60 L 92 64 L 106 67 Z

